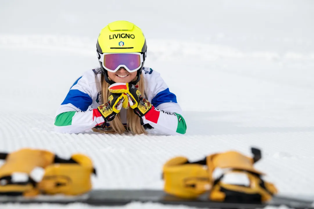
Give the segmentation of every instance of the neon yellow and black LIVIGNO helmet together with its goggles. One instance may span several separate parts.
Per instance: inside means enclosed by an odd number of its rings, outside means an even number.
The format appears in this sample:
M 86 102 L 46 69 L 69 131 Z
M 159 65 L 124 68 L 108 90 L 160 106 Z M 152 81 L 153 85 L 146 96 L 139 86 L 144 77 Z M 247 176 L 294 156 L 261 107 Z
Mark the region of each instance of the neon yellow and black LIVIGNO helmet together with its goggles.
M 115 83 L 109 80 L 108 71 L 116 72 L 121 67 L 124 67 L 129 72 L 137 71 L 137 80 L 130 83 L 138 83 L 144 67 L 147 50 L 146 39 L 140 28 L 133 23 L 123 20 L 109 23 L 105 28 L 101 29 L 96 46 L 100 68 L 105 75 L 107 83 Z M 109 56 L 120 57 L 113 59 Z M 128 59 L 136 60 L 127 63 Z M 116 63 L 112 63 L 112 60 L 115 60 L 114 62 Z

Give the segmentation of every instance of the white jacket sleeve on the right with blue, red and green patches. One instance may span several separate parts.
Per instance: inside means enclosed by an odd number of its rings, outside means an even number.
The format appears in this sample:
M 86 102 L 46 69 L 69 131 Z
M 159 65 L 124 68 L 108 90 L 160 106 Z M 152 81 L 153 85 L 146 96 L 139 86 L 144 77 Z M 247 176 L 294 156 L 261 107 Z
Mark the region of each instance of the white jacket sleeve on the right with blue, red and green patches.
M 142 117 L 143 123 L 168 135 L 185 134 L 187 124 L 182 116 L 176 95 L 170 92 L 160 73 L 151 68 L 145 68 L 144 73 L 146 85 L 148 85 L 147 98 L 151 101 L 154 109 Z

